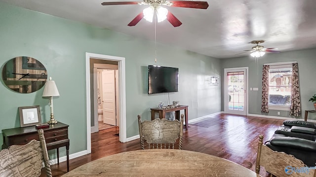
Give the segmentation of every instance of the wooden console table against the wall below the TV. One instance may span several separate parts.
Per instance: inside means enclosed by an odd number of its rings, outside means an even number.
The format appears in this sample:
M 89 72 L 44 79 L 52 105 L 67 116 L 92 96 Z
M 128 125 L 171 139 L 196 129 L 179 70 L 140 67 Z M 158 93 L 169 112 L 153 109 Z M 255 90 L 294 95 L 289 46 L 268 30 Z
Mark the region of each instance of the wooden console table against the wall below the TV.
M 152 112 L 152 120 L 155 119 L 155 113 L 159 113 L 159 118 L 166 118 L 166 113 L 169 112 L 175 112 L 176 113 L 176 119 L 180 121 L 180 110 L 184 110 L 184 118 L 185 118 L 185 128 L 188 130 L 188 106 L 186 105 L 179 105 L 174 108 L 151 108 L 150 109 Z

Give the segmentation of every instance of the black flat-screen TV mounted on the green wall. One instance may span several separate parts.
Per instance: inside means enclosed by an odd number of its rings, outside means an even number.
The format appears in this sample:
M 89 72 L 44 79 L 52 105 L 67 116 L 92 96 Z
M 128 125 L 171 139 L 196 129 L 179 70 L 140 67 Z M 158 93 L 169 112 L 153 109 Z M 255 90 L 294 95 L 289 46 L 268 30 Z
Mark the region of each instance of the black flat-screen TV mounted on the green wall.
M 148 65 L 148 94 L 178 91 L 178 68 Z

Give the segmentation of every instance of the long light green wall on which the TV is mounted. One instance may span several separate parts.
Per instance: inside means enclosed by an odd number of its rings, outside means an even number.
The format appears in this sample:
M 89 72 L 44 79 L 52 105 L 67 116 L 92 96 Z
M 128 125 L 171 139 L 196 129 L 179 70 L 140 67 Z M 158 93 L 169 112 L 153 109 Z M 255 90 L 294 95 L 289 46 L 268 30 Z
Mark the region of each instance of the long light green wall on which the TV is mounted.
M 189 119 L 221 111 L 221 87 L 208 85 L 210 76 L 220 77 L 219 59 L 158 43 L 155 63 L 153 41 L 3 2 L 0 2 L 0 22 L 1 68 L 7 60 L 18 56 L 33 57 L 44 64 L 60 93 L 54 98 L 55 118 L 70 125 L 71 154 L 86 149 L 86 52 L 125 58 L 127 138 L 138 135 L 137 115 L 150 119 L 150 108 L 159 101 L 166 104 L 168 97 L 171 103 L 179 100 L 180 104 L 189 105 Z M 149 64 L 178 67 L 179 92 L 148 95 Z M 47 121 L 48 99 L 42 98 L 42 92 L 43 88 L 29 94 L 16 93 L 1 81 L 0 129 L 20 126 L 20 106 L 40 105 L 42 121 Z

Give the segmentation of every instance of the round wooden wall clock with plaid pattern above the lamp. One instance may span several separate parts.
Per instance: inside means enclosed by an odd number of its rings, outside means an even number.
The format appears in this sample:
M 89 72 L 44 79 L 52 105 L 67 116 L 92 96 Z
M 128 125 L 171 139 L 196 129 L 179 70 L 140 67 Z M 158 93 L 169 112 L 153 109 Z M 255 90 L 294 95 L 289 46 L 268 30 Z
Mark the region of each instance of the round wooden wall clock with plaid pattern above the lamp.
M 37 59 L 16 57 L 4 64 L 2 80 L 13 91 L 32 93 L 44 86 L 47 80 L 47 71 Z

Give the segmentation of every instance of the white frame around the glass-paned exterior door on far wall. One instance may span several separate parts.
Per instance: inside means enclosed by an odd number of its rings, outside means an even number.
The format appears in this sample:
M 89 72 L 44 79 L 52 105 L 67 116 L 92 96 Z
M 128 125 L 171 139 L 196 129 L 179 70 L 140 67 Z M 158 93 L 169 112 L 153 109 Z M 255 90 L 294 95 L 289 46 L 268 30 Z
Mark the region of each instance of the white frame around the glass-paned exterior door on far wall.
M 228 85 L 227 85 L 227 72 L 235 72 L 236 70 L 239 69 L 245 69 L 246 70 L 246 84 L 244 85 L 244 89 L 245 89 L 245 96 L 246 96 L 246 105 L 245 105 L 245 113 L 247 116 L 249 114 L 249 110 L 248 110 L 248 67 L 237 67 L 237 68 L 224 68 L 224 113 L 226 114 L 230 114 L 229 110 L 227 109 L 227 105 L 226 102 L 228 100 Z

